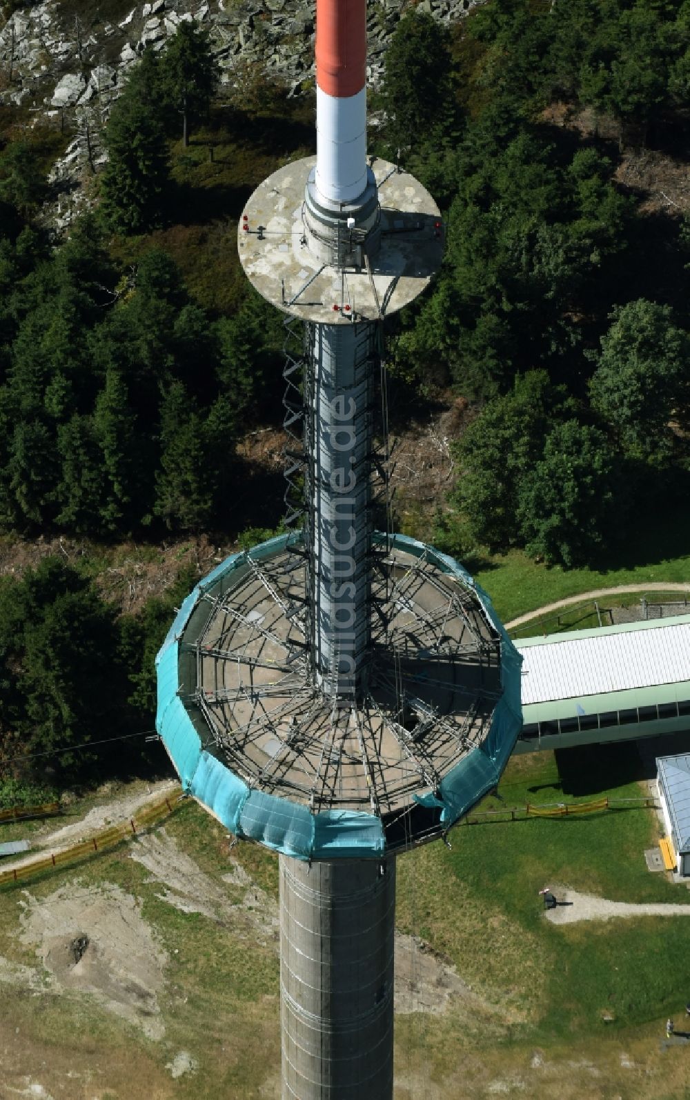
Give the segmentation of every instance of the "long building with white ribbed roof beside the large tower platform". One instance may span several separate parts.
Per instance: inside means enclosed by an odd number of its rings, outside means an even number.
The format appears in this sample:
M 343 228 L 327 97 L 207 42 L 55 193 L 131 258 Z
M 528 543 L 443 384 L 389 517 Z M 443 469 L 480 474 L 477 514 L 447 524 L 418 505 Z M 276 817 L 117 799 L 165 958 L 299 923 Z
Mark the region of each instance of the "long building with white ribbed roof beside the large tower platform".
M 515 646 L 523 657 L 518 752 L 690 728 L 690 615 Z

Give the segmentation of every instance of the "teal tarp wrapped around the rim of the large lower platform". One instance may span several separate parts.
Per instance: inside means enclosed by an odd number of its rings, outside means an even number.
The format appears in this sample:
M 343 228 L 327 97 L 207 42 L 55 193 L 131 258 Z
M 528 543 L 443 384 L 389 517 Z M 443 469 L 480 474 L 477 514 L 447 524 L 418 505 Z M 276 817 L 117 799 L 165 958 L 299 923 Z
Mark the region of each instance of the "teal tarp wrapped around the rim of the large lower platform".
M 255 547 L 251 557 L 262 560 L 285 549 L 298 536 L 282 535 Z M 374 536 L 379 543 L 385 536 Z M 439 809 L 441 824 L 449 828 L 499 782 L 522 727 L 522 657 L 501 625 L 491 600 L 452 558 L 416 539 L 396 535 L 388 543 L 432 562 L 474 591 L 489 620 L 501 638 L 503 694 L 481 746 L 472 749 L 442 780 L 439 790 L 416 798 L 418 805 Z M 179 774 L 186 793 L 202 803 L 222 824 L 245 839 L 297 859 L 376 858 L 385 854 L 381 818 L 358 811 L 331 810 L 313 814 L 307 806 L 263 791 L 251 790 L 224 763 L 201 746 L 201 739 L 184 703 L 179 680 L 179 644 L 185 627 L 205 592 L 222 585 L 247 562 L 245 553 L 232 554 L 204 578 L 184 601 L 156 657 L 158 706 L 156 729 Z

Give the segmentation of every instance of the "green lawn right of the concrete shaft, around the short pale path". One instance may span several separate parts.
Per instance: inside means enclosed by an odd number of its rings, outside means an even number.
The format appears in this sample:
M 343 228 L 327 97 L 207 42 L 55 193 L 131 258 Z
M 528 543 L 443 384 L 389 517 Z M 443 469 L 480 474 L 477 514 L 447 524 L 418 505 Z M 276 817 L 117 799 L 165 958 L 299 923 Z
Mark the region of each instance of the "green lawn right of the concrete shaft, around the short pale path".
M 500 787 L 505 804 L 634 798 L 635 746 L 543 752 L 511 761 Z M 618 778 L 616 778 L 618 777 Z M 480 809 L 503 803 L 485 800 Z M 456 961 L 473 989 L 514 1019 L 507 1042 L 547 1045 L 678 1013 L 688 978 L 690 920 L 645 917 L 556 927 L 537 891 L 568 886 L 611 900 L 688 903 L 664 875 L 646 869 L 658 836 L 653 811 L 459 825 L 452 850 L 431 845 L 398 865 L 398 923 Z M 671 946 L 672 945 L 672 949 Z

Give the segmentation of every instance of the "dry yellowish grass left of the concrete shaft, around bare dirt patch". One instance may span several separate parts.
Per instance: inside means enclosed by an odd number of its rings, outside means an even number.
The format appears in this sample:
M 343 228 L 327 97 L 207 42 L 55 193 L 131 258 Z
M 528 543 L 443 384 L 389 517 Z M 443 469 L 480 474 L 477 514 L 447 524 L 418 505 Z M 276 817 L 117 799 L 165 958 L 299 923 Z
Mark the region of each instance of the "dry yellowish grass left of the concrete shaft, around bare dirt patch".
M 168 818 L 165 828 L 168 835 L 183 842 L 184 851 L 198 860 L 200 871 L 219 882 L 229 866 L 226 832 L 194 803 Z M 261 849 L 249 845 L 242 845 L 241 849 L 241 854 L 249 854 L 249 864 L 256 855 L 262 861 Z M 11 1020 L 10 1014 L 3 1020 L 6 1014 L 0 1013 L 0 1043 L 19 1045 L 19 1065 L 23 1064 L 24 1071 L 32 1072 L 33 1079 L 50 1088 L 51 1094 L 68 1094 L 58 1092 L 59 1088 L 65 1089 L 59 1077 L 64 1077 L 64 1067 L 68 1065 L 73 1078 L 88 1080 L 95 1075 L 101 1086 L 112 1090 L 113 1098 L 260 1097 L 266 1074 L 272 1068 L 277 1072 L 280 1066 L 275 950 L 251 937 L 248 941 L 245 926 L 234 930 L 226 921 L 180 912 L 164 900 L 162 884 L 130 858 L 130 850 L 129 845 L 122 845 L 64 871 L 42 875 L 22 883 L 21 889 L 0 891 L 0 956 L 15 964 L 40 967 L 33 948 L 22 945 L 17 937 L 24 891 L 40 901 L 65 884 L 86 897 L 90 889 L 107 891 L 114 883 L 139 899 L 144 921 L 153 926 L 168 956 L 165 993 L 160 998 L 165 1025 L 163 1040 L 157 1043 L 146 1040 L 88 996 L 45 993 L 37 998 L 17 987 L 3 986 L 3 996 L 7 991 L 11 997 L 12 1013 Z M 271 858 L 266 857 L 265 862 L 270 870 Z M 277 887 L 277 860 L 273 864 Z M 252 873 L 249 867 L 248 871 Z M 15 1026 L 20 1038 L 14 1036 Z M 199 1071 L 172 1080 L 166 1064 L 180 1050 L 191 1053 Z M 50 1052 L 55 1052 L 55 1058 Z M 46 1066 L 51 1068 L 41 1068 Z M 11 1059 L 7 1066 L 3 1060 L 3 1067 L 9 1072 Z

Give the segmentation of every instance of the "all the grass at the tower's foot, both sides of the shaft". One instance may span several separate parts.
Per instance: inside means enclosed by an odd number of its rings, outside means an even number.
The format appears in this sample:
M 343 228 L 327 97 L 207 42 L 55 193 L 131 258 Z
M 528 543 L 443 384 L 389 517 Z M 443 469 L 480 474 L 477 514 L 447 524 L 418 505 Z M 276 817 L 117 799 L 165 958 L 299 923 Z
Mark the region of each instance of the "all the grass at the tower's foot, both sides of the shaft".
M 558 758 L 534 754 L 508 765 L 499 792 L 504 801 L 488 799 L 480 809 L 578 802 L 604 793 L 636 796 L 640 774 L 634 746 L 596 755 L 569 750 Z M 199 873 L 220 884 L 229 866 L 222 826 L 189 802 L 164 827 Z M 550 1093 L 545 1070 L 544 1094 L 566 1100 L 683 1094 L 672 1076 L 673 1059 L 659 1060 L 658 1041 L 666 1015 L 679 1022 L 688 998 L 678 960 L 690 952 L 690 921 L 647 917 L 555 927 L 545 921 L 537 895 L 548 883 L 611 899 L 690 904 L 682 888 L 646 870 L 644 849 L 657 835 L 656 816 L 646 810 L 460 825 L 451 832 L 451 850 L 434 844 L 398 860 L 398 927 L 456 964 L 477 1001 L 471 1018 L 468 1005 L 458 1003 L 441 1016 L 397 1020 L 396 1100 L 423 1097 L 427 1087 L 431 1100 L 489 1097 L 495 1080 L 526 1079 L 535 1048 L 552 1067 L 549 1072 L 563 1072 L 573 1060 L 587 1067 L 595 1058 L 600 1075 L 598 1090 L 587 1091 L 589 1070 L 569 1070 L 562 1089 L 552 1082 Z M 21 889 L 0 891 L 0 956 L 36 966 L 33 949 L 15 935 L 24 890 L 45 899 L 76 880 L 84 890 L 114 883 L 140 899 L 143 919 L 168 955 L 161 998 L 165 1036 L 152 1043 L 88 998 L 30 997 L 12 988 L 11 1031 L 20 1027 L 24 1064 L 36 1067 L 46 1059 L 83 1075 L 98 1066 L 99 1079 L 113 1094 L 122 1090 L 133 1100 L 273 1096 L 266 1081 L 280 1071 L 275 950 L 248 935 L 247 925 L 236 928 L 175 909 L 164 899 L 162 883 L 129 858 L 129 850 L 122 846 Z M 232 857 L 275 898 L 275 856 L 240 844 Z M 613 1014 L 612 1023 L 602 1022 L 604 1011 Z M 81 1045 L 75 1035 L 83 1036 Z M 0 1020 L 0 1042 L 6 1040 L 13 1045 Z M 657 1075 L 651 1092 L 645 1092 L 649 1082 L 639 1075 L 621 1092 L 622 1049 Z M 179 1050 L 189 1050 L 202 1071 L 173 1081 L 165 1066 Z M 34 1076 L 57 1093 L 55 1078 Z M 522 1094 L 533 1093 L 525 1087 Z

